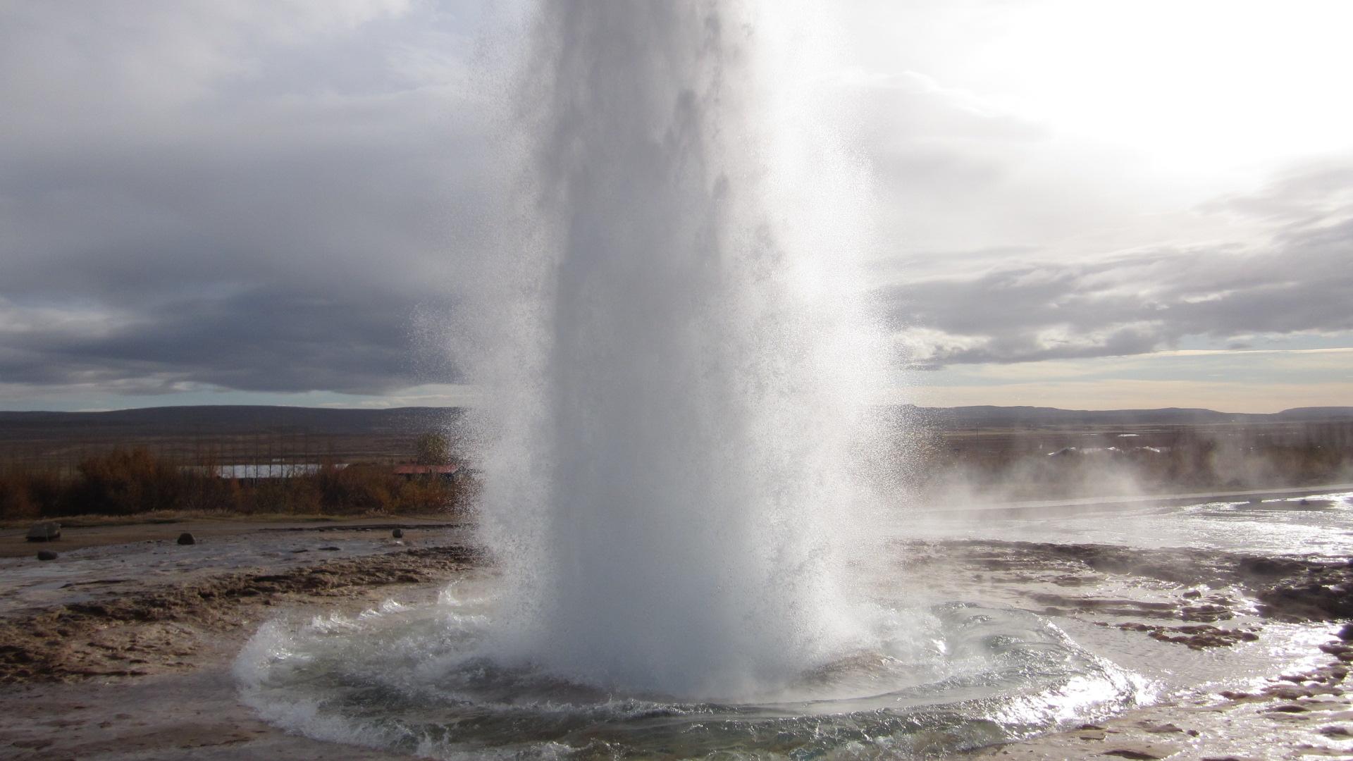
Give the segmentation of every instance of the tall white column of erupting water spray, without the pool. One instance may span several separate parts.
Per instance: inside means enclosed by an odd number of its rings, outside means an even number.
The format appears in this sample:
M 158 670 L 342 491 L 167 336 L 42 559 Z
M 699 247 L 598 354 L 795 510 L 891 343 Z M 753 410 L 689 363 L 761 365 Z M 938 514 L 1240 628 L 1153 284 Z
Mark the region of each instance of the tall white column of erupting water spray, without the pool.
M 733 697 L 856 645 L 843 571 L 882 352 L 858 186 L 804 118 L 813 72 L 789 61 L 812 39 L 786 12 L 538 9 L 526 200 L 465 332 L 501 659 Z

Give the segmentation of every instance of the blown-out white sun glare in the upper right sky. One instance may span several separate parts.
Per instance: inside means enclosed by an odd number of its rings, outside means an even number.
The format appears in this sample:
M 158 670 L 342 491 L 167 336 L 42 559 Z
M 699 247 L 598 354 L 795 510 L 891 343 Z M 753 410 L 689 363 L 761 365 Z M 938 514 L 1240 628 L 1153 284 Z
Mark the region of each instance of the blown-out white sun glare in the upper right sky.
M 974 62 L 1004 77 L 1003 106 L 1068 137 L 1226 172 L 1349 148 L 1349 28 L 1339 0 L 1053 0 Z

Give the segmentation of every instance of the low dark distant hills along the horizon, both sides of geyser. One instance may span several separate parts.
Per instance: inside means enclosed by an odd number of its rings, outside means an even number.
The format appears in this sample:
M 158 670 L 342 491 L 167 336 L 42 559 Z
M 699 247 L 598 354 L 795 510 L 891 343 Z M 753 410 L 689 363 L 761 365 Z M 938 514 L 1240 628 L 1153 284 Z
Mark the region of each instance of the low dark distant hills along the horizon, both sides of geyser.
M 894 408 L 902 420 L 940 428 L 1074 425 L 1218 425 L 1353 421 L 1353 406 L 1296 408 L 1272 414 L 1210 409 L 1068 410 L 1034 406 Z M 165 406 L 114 412 L 0 412 L 0 440 L 246 435 L 407 435 L 455 422 L 457 408 L 330 409 L 294 406 Z

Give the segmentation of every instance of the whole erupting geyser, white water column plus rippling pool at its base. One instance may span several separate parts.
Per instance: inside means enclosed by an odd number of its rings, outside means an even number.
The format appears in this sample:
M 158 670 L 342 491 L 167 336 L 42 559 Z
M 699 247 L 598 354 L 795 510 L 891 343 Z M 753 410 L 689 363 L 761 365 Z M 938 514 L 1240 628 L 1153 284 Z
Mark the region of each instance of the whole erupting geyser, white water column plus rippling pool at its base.
M 306 734 L 433 756 L 905 752 L 1137 699 L 1047 622 L 869 600 L 884 341 L 813 34 L 737 3 L 543 3 L 518 213 L 467 292 L 482 590 L 241 655 Z M 800 27 L 801 30 L 804 27 Z

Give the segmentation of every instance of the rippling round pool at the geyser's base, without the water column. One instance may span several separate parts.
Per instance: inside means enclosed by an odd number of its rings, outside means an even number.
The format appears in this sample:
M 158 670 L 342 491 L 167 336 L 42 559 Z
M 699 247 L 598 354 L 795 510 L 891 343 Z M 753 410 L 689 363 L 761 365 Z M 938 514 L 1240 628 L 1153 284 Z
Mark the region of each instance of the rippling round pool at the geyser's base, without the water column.
M 1142 680 L 1023 611 L 875 607 L 867 651 L 743 701 L 675 699 L 495 659 L 494 582 L 436 603 L 275 620 L 235 665 L 246 703 L 310 737 L 436 758 L 912 757 L 1092 722 Z

